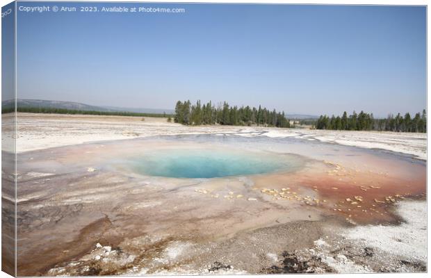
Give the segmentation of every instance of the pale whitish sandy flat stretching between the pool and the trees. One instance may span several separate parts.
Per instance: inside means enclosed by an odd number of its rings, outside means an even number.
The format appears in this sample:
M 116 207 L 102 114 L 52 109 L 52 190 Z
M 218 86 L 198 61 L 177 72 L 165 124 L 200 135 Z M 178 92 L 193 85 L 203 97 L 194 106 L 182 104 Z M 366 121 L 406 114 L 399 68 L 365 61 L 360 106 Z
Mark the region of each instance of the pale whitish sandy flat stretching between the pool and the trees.
M 4 116 L 3 116 L 4 117 Z M 19 113 L 17 152 L 84 142 L 177 134 L 232 134 L 247 137 L 289 137 L 334 142 L 368 149 L 385 149 L 427 159 L 425 133 L 324 131 L 248 126 L 183 126 L 165 118 Z M 4 138 L 2 138 L 4 140 Z

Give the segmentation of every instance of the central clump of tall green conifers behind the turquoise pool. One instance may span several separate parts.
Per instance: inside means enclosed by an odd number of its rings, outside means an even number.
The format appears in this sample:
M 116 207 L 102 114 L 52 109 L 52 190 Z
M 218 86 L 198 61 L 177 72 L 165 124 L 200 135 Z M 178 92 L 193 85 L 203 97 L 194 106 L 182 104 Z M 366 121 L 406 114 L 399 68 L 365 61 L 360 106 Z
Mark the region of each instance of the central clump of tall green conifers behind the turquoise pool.
M 284 112 L 275 109 L 269 111 L 267 108 L 250 106 L 229 106 L 225 101 L 222 105 L 215 107 L 211 101 L 201 105 L 200 100 L 191 104 L 190 100 L 177 101 L 175 106 L 174 122 L 186 125 L 200 124 L 222 124 L 234 126 L 277 126 L 291 127 Z

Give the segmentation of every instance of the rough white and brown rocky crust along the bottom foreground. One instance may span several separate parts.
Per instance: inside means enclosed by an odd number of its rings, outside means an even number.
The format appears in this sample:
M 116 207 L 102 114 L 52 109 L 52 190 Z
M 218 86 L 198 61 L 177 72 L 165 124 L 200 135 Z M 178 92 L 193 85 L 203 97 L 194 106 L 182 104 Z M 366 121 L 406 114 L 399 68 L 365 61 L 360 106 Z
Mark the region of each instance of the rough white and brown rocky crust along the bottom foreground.
M 423 213 L 424 208 L 424 202 L 404 202 L 397 211 L 410 219 L 414 210 Z M 381 226 L 341 227 L 339 222 L 325 219 L 274 225 L 208 243 L 167 242 L 146 236 L 117 247 L 97 243 L 90 253 L 76 261 L 51 268 L 49 275 L 426 271 L 426 245 L 423 244 L 426 243 L 426 225 L 407 220 L 391 228 L 393 230 Z M 382 243 L 376 243 L 370 236 L 373 232 L 383 233 Z M 411 234 L 405 237 L 405 233 Z M 135 250 L 143 245 L 144 254 L 137 254 Z M 414 250 L 414 254 L 410 250 Z

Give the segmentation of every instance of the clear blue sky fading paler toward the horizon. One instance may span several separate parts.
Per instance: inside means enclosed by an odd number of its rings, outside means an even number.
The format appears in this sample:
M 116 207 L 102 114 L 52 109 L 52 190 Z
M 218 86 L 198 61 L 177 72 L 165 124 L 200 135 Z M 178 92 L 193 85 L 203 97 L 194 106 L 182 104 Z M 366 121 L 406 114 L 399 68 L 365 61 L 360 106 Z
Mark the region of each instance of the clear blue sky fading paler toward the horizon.
M 42 4 L 18 3 L 32 5 Z M 88 6 L 186 13 L 18 11 L 19 98 L 141 108 L 226 100 L 311 115 L 426 106 L 425 7 Z

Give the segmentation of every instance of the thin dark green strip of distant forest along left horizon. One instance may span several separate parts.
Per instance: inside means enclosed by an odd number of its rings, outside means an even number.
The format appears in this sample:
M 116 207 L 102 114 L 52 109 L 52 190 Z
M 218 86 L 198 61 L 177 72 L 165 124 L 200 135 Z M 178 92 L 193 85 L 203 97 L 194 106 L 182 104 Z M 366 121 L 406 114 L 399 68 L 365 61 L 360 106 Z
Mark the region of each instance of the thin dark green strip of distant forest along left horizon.
M 13 113 L 13 107 L 2 108 L 1 113 Z M 172 114 L 157 114 L 157 113 L 135 113 L 122 111 L 84 111 L 65 108 L 49 108 L 49 107 L 17 107 L 17 112 L 22 113 L 47 113 L 47 114 L 72 114 L 72 115 L 108 115 L 108 116 L 130 116 L 130 117 L 173 117 Z

